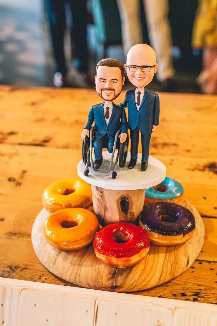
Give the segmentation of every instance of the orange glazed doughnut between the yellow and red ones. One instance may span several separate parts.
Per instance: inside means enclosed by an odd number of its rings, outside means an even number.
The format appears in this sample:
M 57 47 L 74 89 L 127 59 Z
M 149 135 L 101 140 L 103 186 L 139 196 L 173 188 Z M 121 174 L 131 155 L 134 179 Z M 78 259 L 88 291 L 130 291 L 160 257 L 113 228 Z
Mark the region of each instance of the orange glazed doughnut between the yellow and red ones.
M 44 222 L 47 242 L 62 250 L 82 249 L 99 230 L 95 214 L 84 208 L 65 208 L 52 213 Z

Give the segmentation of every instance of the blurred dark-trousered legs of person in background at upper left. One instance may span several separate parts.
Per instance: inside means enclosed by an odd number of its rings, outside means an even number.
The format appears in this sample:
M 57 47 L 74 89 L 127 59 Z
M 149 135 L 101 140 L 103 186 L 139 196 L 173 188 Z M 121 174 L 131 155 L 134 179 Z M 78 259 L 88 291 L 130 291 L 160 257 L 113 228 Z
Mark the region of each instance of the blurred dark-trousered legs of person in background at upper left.
M 67 5 L 67 7 L 66 7 Z M 84 82 L 89 82 L 88 54 L 86 40 L 86 0 L 45 0 L 55 60 L 54 85 L 63 87 L 67 81 L 67 65 L 64 52 L 66 10 L 70 15 L 71 48 L 75 49 L 74 66 L 81 73 Z M 71 19 L 72 18 L 72 19 Z M 74 45 L 74 46 L 73 46 Z

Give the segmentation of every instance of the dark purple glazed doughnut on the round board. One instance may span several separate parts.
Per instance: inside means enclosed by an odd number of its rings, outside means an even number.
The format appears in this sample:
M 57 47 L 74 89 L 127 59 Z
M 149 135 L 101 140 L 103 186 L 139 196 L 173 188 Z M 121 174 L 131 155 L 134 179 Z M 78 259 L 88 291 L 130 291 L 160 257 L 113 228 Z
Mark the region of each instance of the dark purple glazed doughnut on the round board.
M 175 245 L 193 236 L 195 219 L 187 208 L 159 201 L 140 213 L 139 226 L 146 231 L 151 244 Z

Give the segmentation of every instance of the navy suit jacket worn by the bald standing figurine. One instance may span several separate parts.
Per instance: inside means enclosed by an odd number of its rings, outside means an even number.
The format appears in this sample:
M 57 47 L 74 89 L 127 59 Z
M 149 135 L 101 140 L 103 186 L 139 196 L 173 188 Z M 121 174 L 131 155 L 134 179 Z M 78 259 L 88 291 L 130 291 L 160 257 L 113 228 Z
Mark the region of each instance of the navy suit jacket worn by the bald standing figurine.
M 137 111 L 135 89 L 128 91 L 124 102 L 119 105 L 128 108 L 128 124 L 130 130 L 134 130 L 138 126 L 142 132 L 149 132 L 153 125 L 158 126 L 159 124 L 159 96 L 145 87 L 145 93 L 139 111 Z

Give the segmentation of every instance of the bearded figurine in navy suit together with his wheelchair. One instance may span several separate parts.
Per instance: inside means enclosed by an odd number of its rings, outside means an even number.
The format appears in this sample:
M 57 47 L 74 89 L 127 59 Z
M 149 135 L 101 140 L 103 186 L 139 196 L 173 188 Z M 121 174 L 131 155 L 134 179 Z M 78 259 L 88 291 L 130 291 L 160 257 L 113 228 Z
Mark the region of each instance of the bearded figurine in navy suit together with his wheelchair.
M 118 149 L 112 178 L 116 178 L 116 165 L 120 156 L 119 166 L 125 165 L 129 138 L 127 135 L 127 118 L 125 110 L 112 101 L 119 96 L 124 84 L 123 65 L 115 59 L 103 59 L 96 67 L 96 91 L 105 101 L 91 107 L 88 120 L 82 131 L 82 156 L 86 165 L 85 175 L 91 168 L 96 172 L 109 172 L 113 162 L 115 149 Z M 93 122 L 95 123 L 92 127 Z M 94 132 L 93 132 L 94 131 Z M 92 159 L 92 146 L 94 147 L 95 162 Z M 103 161 L 102 149 L 107 148 L 112 154 L 108 170 L 97 171 Z

